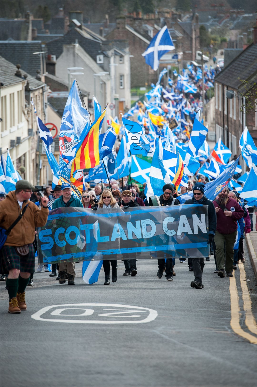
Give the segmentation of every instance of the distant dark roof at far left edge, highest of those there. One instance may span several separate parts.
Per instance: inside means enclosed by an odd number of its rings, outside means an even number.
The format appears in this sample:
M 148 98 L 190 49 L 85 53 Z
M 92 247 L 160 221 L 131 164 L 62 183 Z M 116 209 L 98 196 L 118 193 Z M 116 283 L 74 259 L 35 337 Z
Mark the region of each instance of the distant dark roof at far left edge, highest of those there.
M 27 32 L 25 19 L 0 19 L 0 40 L 26 40 Z

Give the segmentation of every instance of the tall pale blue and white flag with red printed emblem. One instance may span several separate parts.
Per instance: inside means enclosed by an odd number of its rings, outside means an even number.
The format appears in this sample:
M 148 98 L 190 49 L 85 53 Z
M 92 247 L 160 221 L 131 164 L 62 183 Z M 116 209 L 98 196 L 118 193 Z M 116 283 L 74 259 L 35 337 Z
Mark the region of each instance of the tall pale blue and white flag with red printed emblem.
M 63 111 L 60 126 L 60 172 L 71 169 L 71 164 L 80 147 L 80 140 L 89 132 L 89 112 L 83 108 L 76 80 L 74 80 Z M 65 175 L 68 172 L 65 171 Z

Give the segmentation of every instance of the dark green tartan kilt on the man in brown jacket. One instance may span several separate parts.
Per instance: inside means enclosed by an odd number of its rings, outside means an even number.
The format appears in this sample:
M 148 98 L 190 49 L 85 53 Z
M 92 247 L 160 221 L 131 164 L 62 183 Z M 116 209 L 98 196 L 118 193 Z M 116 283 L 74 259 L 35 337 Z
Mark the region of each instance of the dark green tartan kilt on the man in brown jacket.
M 1 250 L 1 274 L 7 274 L 11 269 L 25 273 L 34 273 L 35 249 L 29 244 L 29 253 L 24 256 L 17 254 L 14 246 L 3 246 Z

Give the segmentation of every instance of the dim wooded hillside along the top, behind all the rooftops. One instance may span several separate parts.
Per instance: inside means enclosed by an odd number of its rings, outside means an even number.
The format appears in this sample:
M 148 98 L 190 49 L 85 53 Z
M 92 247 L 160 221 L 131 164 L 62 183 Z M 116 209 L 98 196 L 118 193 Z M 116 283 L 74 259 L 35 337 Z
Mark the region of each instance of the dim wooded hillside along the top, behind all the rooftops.
M 219 10 L 244 9 L 245 13 L 256 12 L 256 0 L 223 0 L 215 3 L 213 0 L 44 0 L 40 3 L 41 8 L 47 7 L 47 16 L 57 14 L 59 8 L 63 8 L 66 15 L 69 11 L 81 10 L 84 17 L 90 22 L 101 22 L 105 14 L 109 15 L 114 22 L 119 14 L 126 14 L 133 10 L 142 10 L 144 14 L 153 13 L 158 8 L 176 8 L 177 10 L 189 11 L 190 9 L 208 10 L 217 5 Z M 34 0 L 0 0 L 0 17 L 15 18 L 24 17 L 30 11 L 34 17 L 41 17 L 38 13 L 39 3 Z M 49 16 L 48 16 L 49 17 Z

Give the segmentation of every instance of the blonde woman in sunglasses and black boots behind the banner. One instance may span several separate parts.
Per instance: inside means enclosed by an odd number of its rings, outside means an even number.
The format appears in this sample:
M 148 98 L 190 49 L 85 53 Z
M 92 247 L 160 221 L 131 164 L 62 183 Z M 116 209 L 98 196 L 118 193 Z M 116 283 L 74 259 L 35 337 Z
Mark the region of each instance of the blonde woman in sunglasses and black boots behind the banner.
M 104 213 L 110 213 L 111 214 L 111 209 L 115 208 L 117 209 L 117 212 L 121 212 L 122 215 L 124 215 L 124 211 L 119 207 L 117 204 L 116 200 L 114 199 L 113 195 L 111 192 L 107 189 L 105 189 L 102 193 L 102 196 L 99 199 L 98 202 L 98 208 L 99 209 L 104 209 Z M 103 232 L 103 235 L 109 235 L 111 224 L 117 223 L 118 218 L 116 216 L 110 216 L 110 221 L 108 221 L 106 218 L 101 221 L 99 219 L 99 228 Z M 124 219 L 125 220 L 125 219 Z M 111 224 L 110 224 L 111 223 Z M 105 233 L 106 232 L 106 233 Z M 112 242 L 112 248 L 119 249 L 120 244 L 119 244 L 119 239 L 117 238 L 115 241 Z M 108 257 L 114 257 L 114 255 L 105 255 L 105 258 Z M 116 255 L 117 258 L 117 255 Z M 104 267 L 104 274 L 105 274 L 105 282 L 104 285 L 110 285 L 110 262 L 112 266 L 112 282 L 117 281 L 117 259 L 111 259 L 111 260 L 104 260 L 103 262 L 103 267 Z

